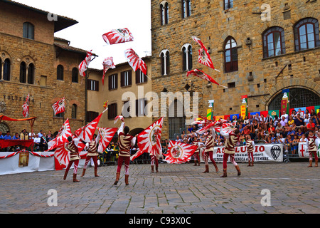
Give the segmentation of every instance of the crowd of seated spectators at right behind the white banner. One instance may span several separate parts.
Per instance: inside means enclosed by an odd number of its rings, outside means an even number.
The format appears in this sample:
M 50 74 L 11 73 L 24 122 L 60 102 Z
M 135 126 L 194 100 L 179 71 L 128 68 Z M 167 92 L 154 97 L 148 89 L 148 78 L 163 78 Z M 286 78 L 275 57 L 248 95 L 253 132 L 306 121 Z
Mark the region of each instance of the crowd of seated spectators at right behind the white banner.
M 284 143 L 285 149 L 295 153 L 299 142 L 305 142 L 308 138 L 309 131 L 313 130 L 317 135 L 320 129 L 320 112 L 315 113 L 314 110 L 306 110 L 305 113 L 301 109 L 296 112 L 292 110 L 289 115 L 282 113 L 282 115 L 250 115 L 242 118 L 237 118 L 233 115 L 233 119 L 227 119 L 228 123 L 235 123 L 240 130 L 240 142 L 238 145 L 245 145 L 247 135 L 255 140 L 255 143 Z M 192 143 L 193 140 L 200 140 L 202 144 L 206 142 L 206 133 L 199 135 L 196 131 L 202 128 L 201 125 L 192 125 L 183 130 L 181 134 L 176 134 L 176 141 Z M 224 138 L 216 133 L 215 146 L 223 146 Z M 166 149 L 169 145 L 169 140 L 161 140 L 161 145 Z

